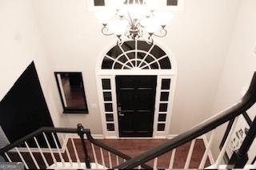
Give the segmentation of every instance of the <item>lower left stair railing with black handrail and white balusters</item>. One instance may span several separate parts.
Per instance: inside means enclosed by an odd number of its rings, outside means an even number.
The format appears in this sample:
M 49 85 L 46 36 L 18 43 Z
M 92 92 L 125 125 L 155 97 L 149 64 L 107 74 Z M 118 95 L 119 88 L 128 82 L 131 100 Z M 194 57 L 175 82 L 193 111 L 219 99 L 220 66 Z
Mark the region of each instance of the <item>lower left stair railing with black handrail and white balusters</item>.
M 63 134 L 70 135 L 70 137 L 66 138 Z M 77 134 L 78 136 L 74 136 L 74 134 Z M 85 134 L 87 140 L 84 138 Z M 50 143 L 49 135 L 52 137 L 54 144 Z M 38 136 L 43 136 L 43 142 L 46 144 L 47 148 L 42 147 L 42 144 L 40 145 Z M 79 138 L 81 143 L 77 145 L 74 138 Z M 62 146 L 59 144 L 59 139 L 62 139 Z M 65 142 L 65 140 L 70 140 L 70 148 L 72 149 L 67 147 L 67 143 L 69 141 Z M 31 141 L 36 144 L 37 148 L 31 148 L 29 146 Z M 82 149 L 78 148 L 78 146 L 82 146 Z M 92 152 L 91 155 L 93 156 L 94 162 L 90 160 L 88 152 L 89 147 L 91 147 L 90 150 Z M 98 147 L 99 153 L 96 153 L 96 147 Z M 83 156 L 81 156 L 81 151 Z M 14 153 L 17 154 L 14 155 Z M 107 160 L 106 153 L 108 158 Z M 78 124 L 78 128 L 39 128 L 37 131 L 32 132 L 29 135 L 22 137 L 20 140 L 7 145 L 5 148 L 0 149 L 0 155 L 8 162 L 21 160 L 26 169 L 61 169 L 63 167 L 78 169 L 112 168 L 113 166 L 122 164 L 121 161 L 130 159 L 130 156 L 107 146 L 99 140 L 95 140 L 90 134 L 90 129 L 83 128 L 81 124 Z M 101 157 L 101 159 L 99 159 L 99 157 Z M 116 160 L 116 162 L 114 163 L 113 160 Z M 94 163 L 93 167 L 91 163 Z M 151 167 L 146 164 L 142 164 L 142 168 Z

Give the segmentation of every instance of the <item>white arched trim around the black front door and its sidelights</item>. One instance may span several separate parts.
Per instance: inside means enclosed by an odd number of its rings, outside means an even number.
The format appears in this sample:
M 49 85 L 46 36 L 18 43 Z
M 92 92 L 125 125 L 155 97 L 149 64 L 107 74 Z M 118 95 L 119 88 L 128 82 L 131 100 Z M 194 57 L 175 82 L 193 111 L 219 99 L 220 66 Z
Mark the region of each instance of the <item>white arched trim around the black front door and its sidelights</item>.
M 117 99 L 116 99 L 116 87 L 115 87 L 115 76 L 117 75 L 155 75 L 158 77 L 157 82 L 157 89 L 156 89 L 156 100 L 155 100 L 155 112 L 154 112 L 154 132 L 153 137 L 166 137 L 170 134 L 170 119 L 171 113 L 173 110 L 174 104 L 174 93 L 176 88 L 176 81 L 177 81 L 177 62 L 174 57 L 174 54 L 170 52 L 170 49 L 162 42 L 154 41 L 154 45 L 158 45 L 169 57 L 171 63 L 171 69 L 102 69 L 102 61 L 103 58 L 106 56 L 106 53 L 112 49 L 116 45 L 116 42 L 110 43 L 110 45 L 106 45 L 102 52 L 99 53 L 96 67 L 95 67 L 95 76 L 97 81 L 97 90 L 98 90 L 98 105 L 101 114 L 101 121 L 102 121 L 102 132 L 103 136 L 106 138 L 118 138 L 118 113 L 117 113 Z M 110 90 L 102 90 L 102 78 L 110 79 L 111 89 Z M 166 114 L 166 128 L 165 131 L 157 131 L 157 123 L 158 123 L 158 107 L 160 101 L 160 93 L 161 93 L 161 80 L 162 78 L 170 78 L 170 95 L 167 114 Z M 165 91 L 165 90 L 162 90 Z M 102 92 L 111 92 L 112 101 L 103 101 L 103 93 Z M 114 124 L 114 131 L 107 131 L 106 129 L 106 112 L 104 108 L 104 103 L 112 103 L 113 104 L 113 113 L 114 114 L 114 121 L 108 122 Z M 161 102 L 164 103 L 164 102 Z M 160 122 L 161 123 L 161 122 Z

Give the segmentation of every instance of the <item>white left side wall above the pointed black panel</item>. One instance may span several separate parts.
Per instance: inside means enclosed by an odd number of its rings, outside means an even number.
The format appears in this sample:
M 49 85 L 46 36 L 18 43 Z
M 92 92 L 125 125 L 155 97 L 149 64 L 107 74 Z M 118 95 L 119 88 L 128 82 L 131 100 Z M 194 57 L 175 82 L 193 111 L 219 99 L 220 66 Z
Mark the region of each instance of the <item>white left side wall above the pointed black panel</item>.
M 54 125 L 58 126 L 58 109 L 53 103 L 51 69 L 35 23 L 29 0 L 0 1 L 0 101 L 34 61 Z

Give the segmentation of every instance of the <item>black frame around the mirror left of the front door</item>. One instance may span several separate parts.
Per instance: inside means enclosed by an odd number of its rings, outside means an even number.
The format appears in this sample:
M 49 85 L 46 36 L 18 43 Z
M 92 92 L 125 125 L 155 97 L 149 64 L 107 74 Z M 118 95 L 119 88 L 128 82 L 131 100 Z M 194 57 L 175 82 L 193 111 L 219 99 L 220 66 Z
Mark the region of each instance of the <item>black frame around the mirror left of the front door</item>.
M 80 88 L 82 90 L 81 95 L 83 97 L 84 106 L 82 106 L 82 107 L 70 107 L 70 106 L 65 105 L 62 90 L 61 90 L 61 86 L 60 86 L 60 82 L 58 80 L 58 75 L 70 75 L 72 77 L 77 77 L 75 79 L 73 78 L 74 80 L 72 80 L 72 81 L 74 81 L 74 82 L 81 81 L 80 82 L 81 83 Z M 59 96 L 60 96 L 61 101 L 62 101 L 63 113 L 66 113 L 66 114 L 68 114 L 68 113 L 71 113 L 71 114 L 88 114 L 89 111 L 88 111 L 88 106 L 87 106 L 87 101 L 86 101 L 86 93 L 85 93 L 84 83 L 83 83 L 83 79 L 82 79 L 82 73 L 81 72 L 54 72 L 54 76 L 55 76 L 55 80 L 56 80 L 56 83 L 57 83 L 57 86 L 58 86 L 58 93 L 59 93 Z

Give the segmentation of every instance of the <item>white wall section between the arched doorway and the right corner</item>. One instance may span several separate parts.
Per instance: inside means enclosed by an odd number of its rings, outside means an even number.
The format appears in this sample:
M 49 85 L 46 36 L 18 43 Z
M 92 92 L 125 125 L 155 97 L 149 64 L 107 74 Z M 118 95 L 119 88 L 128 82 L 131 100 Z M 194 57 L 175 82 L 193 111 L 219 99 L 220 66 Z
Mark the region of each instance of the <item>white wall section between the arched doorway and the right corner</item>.
M 170 34 L 162 41 L 178 63 L 170 133 L 184 132 L 210 117 L 238 6 L 234 0 L 186 0 L 185 13 L 168 26 Z

